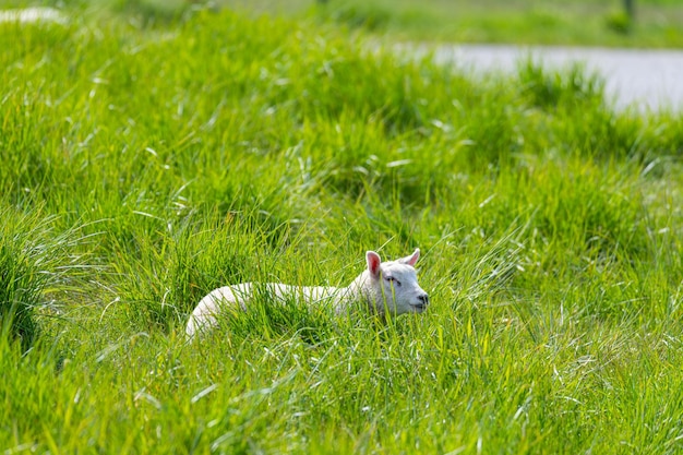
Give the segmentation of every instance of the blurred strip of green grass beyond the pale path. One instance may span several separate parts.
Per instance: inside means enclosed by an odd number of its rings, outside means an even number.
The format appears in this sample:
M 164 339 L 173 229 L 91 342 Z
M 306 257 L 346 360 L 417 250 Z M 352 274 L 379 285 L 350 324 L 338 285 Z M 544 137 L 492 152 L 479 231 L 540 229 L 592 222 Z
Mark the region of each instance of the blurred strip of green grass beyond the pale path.
M 152 2 L 152 1 L 149 1 Z M 143 3 L 145 3 L 143 1 Z M 255 14 L 312 15 L 390 43 L 503 43 L 607 47 L 683 47 L 683 5 L 635 0 L 220 0 Z

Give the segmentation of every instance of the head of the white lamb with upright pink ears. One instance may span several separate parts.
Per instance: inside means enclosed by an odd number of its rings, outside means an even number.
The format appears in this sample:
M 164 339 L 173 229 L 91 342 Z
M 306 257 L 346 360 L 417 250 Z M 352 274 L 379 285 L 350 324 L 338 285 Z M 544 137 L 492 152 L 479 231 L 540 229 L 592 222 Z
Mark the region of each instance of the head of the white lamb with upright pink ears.
M 418 284 L 415 264 L 420 249 L 396 261 L 382 262 L 374 251 L 366 253 L 368 268 L 359 277 L 362 294 L 379 314 L 421 313 L 429 304 L 427 292 Z

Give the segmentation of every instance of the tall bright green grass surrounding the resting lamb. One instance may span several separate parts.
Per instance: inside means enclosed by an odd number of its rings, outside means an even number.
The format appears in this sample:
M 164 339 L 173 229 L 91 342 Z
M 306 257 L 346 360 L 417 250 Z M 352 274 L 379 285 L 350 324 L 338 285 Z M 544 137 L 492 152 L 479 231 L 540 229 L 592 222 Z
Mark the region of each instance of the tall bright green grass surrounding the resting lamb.
M 313 20 L 76 12 L 0 24 L 0 453 L 683 451 L 683 118 Z M 219 285 L 415 247 L 424 314 L 263 298 L 183 340 Z

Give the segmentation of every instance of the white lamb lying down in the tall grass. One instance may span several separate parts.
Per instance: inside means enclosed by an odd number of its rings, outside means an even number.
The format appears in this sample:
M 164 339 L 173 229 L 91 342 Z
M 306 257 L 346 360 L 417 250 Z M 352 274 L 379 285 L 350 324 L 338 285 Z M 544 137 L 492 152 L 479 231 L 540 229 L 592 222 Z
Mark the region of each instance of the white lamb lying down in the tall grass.
M 279 283 L 225 286 L 212 290 L 196 306 L 185 334 L 192 338 L 197 332 L 207 332 L 218 324 L 218 315 L 229 308 L 244 310 L 247 303 L 259 292 L 273 298 L 303 299 L 309 304 L 331 302 L 337 313 L 348 311 L 354 302 L 361 302 L 369 311 L 384 316 L 385 313 L 421 313 L 427 309 L 429 297 L 418 284 L 415 264 L 420 250 L 396 261 L 382 262 L 374 251 L 366 253 L 368 267 L 348 287 L 289 286 Z

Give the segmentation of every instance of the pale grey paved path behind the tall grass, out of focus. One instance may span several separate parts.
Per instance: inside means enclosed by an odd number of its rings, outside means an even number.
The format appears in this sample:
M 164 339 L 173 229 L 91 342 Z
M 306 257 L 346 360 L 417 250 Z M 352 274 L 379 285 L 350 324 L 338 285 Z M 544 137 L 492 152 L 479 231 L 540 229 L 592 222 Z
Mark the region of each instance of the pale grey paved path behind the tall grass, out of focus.
M 418 51 L 419 53 L 419 51 Z M 618 109 L 671 109 L 683 112 L 683 51 L 574 47 L 450 45 L 435 49 L 440 62 L 454 62 L 475 72 L 515 71 L 520 59 L 532 57 L 547 68 L 583 62 L 600 74 L 606 96 Z

